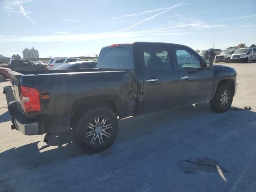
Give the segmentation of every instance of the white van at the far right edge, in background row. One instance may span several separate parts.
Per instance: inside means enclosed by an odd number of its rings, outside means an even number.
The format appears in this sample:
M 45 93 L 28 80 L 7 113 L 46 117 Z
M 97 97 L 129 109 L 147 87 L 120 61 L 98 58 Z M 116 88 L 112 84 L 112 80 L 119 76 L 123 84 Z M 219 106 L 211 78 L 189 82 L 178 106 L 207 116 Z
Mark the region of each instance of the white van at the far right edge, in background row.
M 231 62 L 256 60 L 256 47 L 246 47 L 235 50 L 231 56 Z

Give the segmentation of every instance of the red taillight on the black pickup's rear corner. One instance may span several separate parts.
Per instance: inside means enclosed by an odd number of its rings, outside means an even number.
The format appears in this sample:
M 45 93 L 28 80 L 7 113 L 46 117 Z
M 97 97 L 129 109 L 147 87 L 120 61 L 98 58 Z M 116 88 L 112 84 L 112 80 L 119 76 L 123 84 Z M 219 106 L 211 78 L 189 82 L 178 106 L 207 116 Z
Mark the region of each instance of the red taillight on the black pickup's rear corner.
M 38 90 L 30 87 L 20 86 L 22 104 L 24 112 L 36 112 L 40 111 L 40 100 Z

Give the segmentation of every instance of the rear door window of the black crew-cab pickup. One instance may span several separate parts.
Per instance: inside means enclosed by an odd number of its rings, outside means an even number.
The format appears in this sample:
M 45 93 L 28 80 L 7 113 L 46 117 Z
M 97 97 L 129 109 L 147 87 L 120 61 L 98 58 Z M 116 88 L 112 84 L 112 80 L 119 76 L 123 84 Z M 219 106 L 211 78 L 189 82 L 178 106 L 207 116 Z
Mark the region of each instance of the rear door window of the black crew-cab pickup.
M 168 49 L 164 46 L 145 46 L 144 63 L 148 70 L 172 70 Z

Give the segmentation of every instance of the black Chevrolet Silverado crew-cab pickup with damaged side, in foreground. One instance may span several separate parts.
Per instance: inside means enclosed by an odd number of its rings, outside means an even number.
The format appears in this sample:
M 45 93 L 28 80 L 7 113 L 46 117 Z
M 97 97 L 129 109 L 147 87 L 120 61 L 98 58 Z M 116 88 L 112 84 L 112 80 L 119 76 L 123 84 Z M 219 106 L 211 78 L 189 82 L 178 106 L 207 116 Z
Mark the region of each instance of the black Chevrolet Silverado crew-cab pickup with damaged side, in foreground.
M 210 101 L 226 112 L 236 71 L 208 65 L 191 48 L 135 42 L 102 48 L 97 68 L 10 72 L 5 87 L 12 129 L 26 135 L 72 130 L 100 152 L 116 139 L 118 119 Z

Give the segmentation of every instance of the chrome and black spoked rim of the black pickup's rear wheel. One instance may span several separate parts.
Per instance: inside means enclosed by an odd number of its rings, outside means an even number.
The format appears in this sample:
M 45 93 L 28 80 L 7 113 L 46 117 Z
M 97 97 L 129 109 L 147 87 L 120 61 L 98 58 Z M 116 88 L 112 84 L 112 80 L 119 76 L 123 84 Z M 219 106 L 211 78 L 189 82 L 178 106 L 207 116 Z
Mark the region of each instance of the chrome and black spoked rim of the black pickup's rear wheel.
M 94 121 L 90 122 L 87 126 L 89 128 L 86 133 L 86 137 L 90 138 L 90 142 L 95 144 L 99 142 L 100 144 L 104 143 L 104 139 L 110 137 L 110 132 L 108 129 L 112 128 L 112 124 L 108 123 L 108 118 L 95 118 Z

